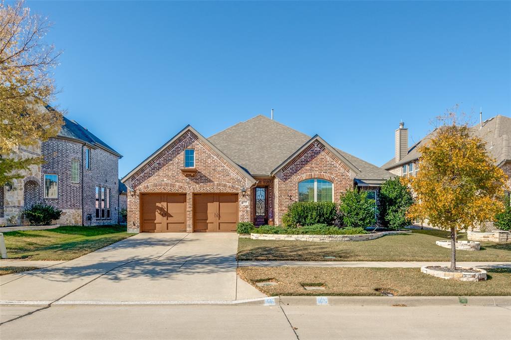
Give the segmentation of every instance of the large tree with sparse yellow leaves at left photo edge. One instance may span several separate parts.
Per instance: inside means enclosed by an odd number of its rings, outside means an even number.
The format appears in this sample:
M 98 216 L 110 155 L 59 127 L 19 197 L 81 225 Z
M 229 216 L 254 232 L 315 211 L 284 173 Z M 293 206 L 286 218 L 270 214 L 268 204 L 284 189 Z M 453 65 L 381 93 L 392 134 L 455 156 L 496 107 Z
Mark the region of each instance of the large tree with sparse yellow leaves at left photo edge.
M 47 106 L 54 100 L 52 69 L 60 56 L 45 43 L 51 27 L 24 1 L 8 5 L 0 0 L 0 186 L 42 161 L 11 157 L 18 145 L 53 137 L 63 124 L 62 114 Z

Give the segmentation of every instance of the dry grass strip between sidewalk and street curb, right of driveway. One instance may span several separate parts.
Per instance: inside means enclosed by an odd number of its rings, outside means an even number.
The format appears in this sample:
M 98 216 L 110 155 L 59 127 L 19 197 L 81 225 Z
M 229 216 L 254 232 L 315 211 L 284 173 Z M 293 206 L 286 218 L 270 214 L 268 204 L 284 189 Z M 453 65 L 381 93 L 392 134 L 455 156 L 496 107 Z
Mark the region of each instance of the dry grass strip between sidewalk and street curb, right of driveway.
M 238 274 L 269 296 L 509 296 L 511 269 L 486 269 L 487 281 L 444 280 L 419 268 L 240 267 Z M 257 286 L 271 277 L 271 286 Z M 303 283 L 321 283 L 321 290 L 306 290 Z

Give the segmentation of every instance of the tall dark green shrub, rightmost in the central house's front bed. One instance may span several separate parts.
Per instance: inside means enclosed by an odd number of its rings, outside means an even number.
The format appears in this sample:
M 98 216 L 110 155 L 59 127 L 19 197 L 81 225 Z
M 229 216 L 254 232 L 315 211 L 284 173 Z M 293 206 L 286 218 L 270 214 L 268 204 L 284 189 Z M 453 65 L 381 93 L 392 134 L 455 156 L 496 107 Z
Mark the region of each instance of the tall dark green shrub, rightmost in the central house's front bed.
M 384 227 L 401 229 L 409 226 L 412 221 L 406 217 L 406 211 L 412 204 L 412 194 L 399 178 L 383 182 L 380 189 L 380 209 Z

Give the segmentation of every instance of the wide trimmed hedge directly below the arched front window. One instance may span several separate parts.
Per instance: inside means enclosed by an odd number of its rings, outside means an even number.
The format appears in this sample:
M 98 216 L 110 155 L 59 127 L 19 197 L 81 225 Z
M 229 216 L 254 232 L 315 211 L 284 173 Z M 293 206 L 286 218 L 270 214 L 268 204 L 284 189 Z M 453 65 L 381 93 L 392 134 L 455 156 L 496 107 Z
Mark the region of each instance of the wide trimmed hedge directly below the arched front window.
M 337 219 L 337 204 L 334 202 L 294 202 L 282 217 L 285 227 L 333 225 Z

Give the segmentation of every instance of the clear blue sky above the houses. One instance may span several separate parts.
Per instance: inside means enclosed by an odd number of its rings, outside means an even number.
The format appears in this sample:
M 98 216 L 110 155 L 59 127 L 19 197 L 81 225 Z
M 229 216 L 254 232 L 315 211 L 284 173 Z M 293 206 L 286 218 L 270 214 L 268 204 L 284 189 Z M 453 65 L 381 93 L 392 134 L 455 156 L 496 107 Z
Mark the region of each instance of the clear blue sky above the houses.
M 44 2 L 67 117 L 124 157 L 257 114 L 376 165 L 447 108 L 511 115 L 511 2 Z

